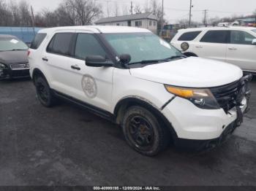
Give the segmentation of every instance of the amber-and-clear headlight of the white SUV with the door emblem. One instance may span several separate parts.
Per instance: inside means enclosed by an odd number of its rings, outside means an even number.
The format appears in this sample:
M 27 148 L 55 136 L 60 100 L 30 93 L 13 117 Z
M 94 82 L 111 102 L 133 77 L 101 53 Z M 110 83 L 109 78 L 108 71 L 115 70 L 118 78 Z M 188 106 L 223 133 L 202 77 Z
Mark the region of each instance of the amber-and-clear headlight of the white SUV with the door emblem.
M 169 93 L 186 98 L 201 109 L 220 109 L 216 98 L 208 89 L 174 87 L 170 85 L 165 85 L 165 88 Z

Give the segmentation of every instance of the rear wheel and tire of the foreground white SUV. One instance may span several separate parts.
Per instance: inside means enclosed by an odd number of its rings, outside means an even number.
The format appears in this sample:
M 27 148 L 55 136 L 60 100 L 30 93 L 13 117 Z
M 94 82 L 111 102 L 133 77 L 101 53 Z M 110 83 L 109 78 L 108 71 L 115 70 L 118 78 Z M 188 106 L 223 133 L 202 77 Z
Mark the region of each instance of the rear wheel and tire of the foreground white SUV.
M 51 107 L 56 103 L 56 98 L 44 77 L 37 76 L 35 78 L 35 86 L 37 90 L 37 98 L 43 106 Z

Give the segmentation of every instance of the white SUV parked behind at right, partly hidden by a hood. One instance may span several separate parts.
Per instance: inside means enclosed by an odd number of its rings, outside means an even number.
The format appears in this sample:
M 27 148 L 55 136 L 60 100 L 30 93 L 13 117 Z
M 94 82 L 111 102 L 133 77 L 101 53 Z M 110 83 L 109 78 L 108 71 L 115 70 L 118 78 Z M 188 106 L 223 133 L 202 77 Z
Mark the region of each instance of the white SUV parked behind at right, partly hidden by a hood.
M 256 28 L 214 27 L 181 29 L 171 41 L 187 56 L 211 58 L 256 74 Z

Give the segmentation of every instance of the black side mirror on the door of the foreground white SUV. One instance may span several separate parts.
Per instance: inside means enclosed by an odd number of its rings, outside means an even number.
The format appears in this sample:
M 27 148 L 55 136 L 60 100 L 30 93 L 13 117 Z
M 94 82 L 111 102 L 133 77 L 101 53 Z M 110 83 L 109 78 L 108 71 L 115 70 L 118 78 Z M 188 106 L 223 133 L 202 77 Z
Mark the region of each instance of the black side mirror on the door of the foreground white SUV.
M 86 57 L 86 66 L 91 67 L 110 67 L 113 63 L 107 61 L 106 58 L 101 55 L 89 55 Z

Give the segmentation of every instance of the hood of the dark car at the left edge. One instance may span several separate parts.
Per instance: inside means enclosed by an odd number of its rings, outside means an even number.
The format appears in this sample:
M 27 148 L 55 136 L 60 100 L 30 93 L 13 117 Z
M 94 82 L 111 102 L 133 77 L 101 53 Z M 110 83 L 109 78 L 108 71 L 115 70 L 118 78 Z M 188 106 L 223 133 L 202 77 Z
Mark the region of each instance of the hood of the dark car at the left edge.
M 0 63 L 27 63 L 28 56 L 26 50 L 0 52 Z

